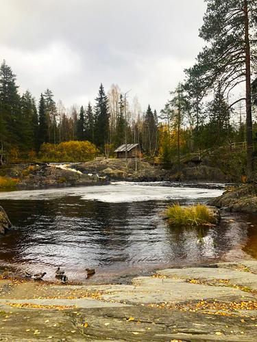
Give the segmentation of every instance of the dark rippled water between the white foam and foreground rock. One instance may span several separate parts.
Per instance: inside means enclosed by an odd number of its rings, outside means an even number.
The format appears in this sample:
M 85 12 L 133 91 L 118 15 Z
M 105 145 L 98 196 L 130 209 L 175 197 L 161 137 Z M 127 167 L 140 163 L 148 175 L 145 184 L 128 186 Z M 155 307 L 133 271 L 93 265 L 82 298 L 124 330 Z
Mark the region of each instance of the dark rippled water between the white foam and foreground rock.
M 182 200 L 182 202 L 184 202 Z M 53 200 L 1 200 L 14 230 L 1 237 L 0 262 L 19 269 L 44 269 L 48 278 L 61 265 L 94 280 L 133 269 L 216 261 L 245 248 L 257 258 L 257 222 L 227 216 L 215 228 L 170 228 L 159 213 L 170 201 L 108 203 L 71 196 Z M 251 242 L 249 242 L 251 241 Z

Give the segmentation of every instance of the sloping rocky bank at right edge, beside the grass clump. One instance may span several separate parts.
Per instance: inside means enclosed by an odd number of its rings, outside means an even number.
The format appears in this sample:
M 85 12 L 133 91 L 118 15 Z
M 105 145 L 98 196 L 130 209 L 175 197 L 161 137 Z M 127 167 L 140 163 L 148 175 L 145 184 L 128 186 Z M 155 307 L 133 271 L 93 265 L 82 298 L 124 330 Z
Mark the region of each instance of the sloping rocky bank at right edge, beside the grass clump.
M 208 202 L 218 208 L 241 213 L 257 213 L 257 186 L 241 185 L 231 187 L 223 195 Z

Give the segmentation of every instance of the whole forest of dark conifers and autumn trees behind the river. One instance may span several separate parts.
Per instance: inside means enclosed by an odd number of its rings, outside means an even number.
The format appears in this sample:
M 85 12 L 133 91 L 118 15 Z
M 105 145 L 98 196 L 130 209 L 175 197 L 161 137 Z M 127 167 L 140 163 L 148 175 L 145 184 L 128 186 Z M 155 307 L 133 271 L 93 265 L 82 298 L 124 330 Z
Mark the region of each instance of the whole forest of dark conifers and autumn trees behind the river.
M 143 157 L 169 168 L 180 165 L 188 153 L 238 144 L 241 172 L 250 174 L 257 144 L 257 4 L 207 3 L 199 29 L 206 45 L 195 64 L 184 70 L 184 79 L 170 90 L 160 112 L 151 103 L 142 108 L 138 98 L 130 98 L 116 84 L 107 91 L 100 84 L 92 102 L 71 108 L 56 102 L 50 89 L 37 98 L 29 90 L 20 94 L 16 75 L 3 60 L 1 153 L 10 162 L 60 161 L 71 160 L 64 153 L 71 150 L 72 161 L 81 161 L 83 153 L 74 157 L 73 148 L 86 148 L 84 159 L 113 157 L 115 148 L 127 141 L 138 143 Z

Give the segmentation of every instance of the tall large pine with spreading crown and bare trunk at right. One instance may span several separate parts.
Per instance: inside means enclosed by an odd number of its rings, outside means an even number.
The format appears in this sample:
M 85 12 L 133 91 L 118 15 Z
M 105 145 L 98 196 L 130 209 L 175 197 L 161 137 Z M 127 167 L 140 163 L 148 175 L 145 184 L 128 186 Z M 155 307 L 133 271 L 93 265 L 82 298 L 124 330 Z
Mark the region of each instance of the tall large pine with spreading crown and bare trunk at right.
M 238 84 L 245 83 L 247 127 L 247 172 L 253 166 L 251 61 L 256 62 L 252 32 L 256 30 L 256 0 L 206 0 L 207 10 L 200 37 L 208 45 L 199 53 L 197 64 L 188 69 L 189 78 L 197 77 L 201 94 L 214 86 L 229 94 Z M 252 40 L 252 41 L 251 41 Z M 252 45 L 251 45 L 252 43 Z

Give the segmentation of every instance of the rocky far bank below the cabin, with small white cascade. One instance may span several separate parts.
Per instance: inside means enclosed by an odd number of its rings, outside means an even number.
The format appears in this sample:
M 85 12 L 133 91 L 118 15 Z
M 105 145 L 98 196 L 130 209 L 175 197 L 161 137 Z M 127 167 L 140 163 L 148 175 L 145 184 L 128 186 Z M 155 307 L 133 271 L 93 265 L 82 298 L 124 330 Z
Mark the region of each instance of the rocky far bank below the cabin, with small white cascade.
M 5 183 L 14 183 L 14 189 L 67 187 L 75 185 L 108 184 L 110 181 L 175 181 L 219 182 L 230 181 L 221 170 L 206 165 L 184 165 L 164 170 L 147 161 L 129 159 L 95 159 L 86 163 L 20 163 L 0 168 Z M 10 182 L 14 180 L 14 182 Z

